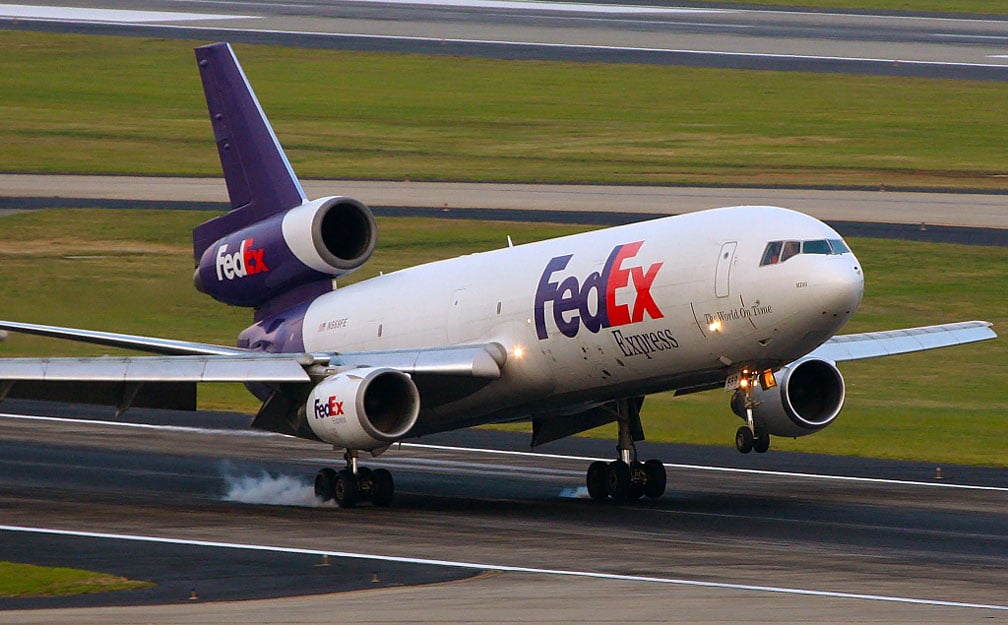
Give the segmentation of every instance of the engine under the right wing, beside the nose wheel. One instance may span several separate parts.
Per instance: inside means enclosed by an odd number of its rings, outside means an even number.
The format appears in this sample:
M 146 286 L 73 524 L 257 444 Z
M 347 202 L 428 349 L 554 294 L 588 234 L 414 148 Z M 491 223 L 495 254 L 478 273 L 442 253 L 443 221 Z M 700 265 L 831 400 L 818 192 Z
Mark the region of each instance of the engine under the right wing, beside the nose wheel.
M 793 362 L 774 374 L 777 386 L 756 386 L 753 418 L 777 436 L 804 436 L 816 432 L 837 418 L 844 407 L 844 376 L 832 362 L 809 358 Z M 735 391 L 732 410 L 746 417 L 745 395 Z

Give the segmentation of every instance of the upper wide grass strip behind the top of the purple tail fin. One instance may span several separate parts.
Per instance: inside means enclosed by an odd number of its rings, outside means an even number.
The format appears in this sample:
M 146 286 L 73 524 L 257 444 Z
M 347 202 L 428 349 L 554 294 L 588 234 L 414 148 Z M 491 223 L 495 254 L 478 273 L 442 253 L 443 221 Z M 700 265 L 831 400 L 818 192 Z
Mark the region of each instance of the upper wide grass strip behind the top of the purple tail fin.
M 0 31 L 0 170 L 220 175 L 193 41 Z M 304 177 L 1006 188 L 1003 83 L 237 45 Z

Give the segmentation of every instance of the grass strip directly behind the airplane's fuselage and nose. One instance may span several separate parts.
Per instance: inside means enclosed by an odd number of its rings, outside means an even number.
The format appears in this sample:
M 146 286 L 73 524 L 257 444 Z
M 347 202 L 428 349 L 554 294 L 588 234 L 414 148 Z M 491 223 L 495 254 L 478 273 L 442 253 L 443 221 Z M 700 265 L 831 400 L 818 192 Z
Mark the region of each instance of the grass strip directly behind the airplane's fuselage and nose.
M 338 191 L 338 190 L 334 190 Z M 202 212 L 60 210 L 0 219 L 0 319 L 233 345 L 251 321 L 192 284 L 190 231 Z M 431 219 L 378 220 L 374 257 L 344 283 L 420 262 L 587 230 Z M 14 243 L 14 242 L 17 243 Z M 1005 248 L 875 239 L 850 241 L 865 269 L 864 302 L 845 332 L 968 321 L 1008 332 Z M 23 246 L 25 252 L 18 249 Z M 107 348 L 12 335 L 0 357 L 98 355 Z M 837 422 L 774 449 L 935 463 L 1008 466 L 1005 340 L 846 363 L 848 401 Z M 204 408 L 253 413 L 240 386 L 204 385 Z M 649 396 L 649 441 L 729 446 L 741 424 L 721 391 Z M 110 414 L 112 408 L 109 408 Z M 525 425 L 517 426 L 527 429 Z M 611 428 L 593 435 L 612 436 Z

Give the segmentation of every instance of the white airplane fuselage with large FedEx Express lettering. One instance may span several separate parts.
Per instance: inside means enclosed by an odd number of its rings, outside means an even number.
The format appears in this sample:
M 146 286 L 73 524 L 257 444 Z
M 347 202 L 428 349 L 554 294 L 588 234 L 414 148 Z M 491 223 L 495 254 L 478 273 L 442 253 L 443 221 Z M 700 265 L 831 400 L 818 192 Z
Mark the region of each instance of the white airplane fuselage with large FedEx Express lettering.
M 840 238 L 799 213 L 737 207 L 473 254 L 319 297 L 304 347 L 502 345 L 501 379 L 425 406 L 430 430 L 710 388 L 800 358 L 847 322 L 864 285 L 852 253 L 761 265 L 769 242 Z

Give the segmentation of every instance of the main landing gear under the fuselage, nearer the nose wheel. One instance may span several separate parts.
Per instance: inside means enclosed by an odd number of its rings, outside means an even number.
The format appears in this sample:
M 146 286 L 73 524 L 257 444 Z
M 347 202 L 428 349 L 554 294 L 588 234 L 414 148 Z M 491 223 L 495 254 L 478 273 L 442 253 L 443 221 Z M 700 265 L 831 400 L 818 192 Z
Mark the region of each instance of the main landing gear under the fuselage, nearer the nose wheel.
M 658 460 L 639 462 L 636 441 L 644 440 L 640 423 L 643 397 L 616 401 L 616 423 L 619 425 L 619 458 L 611 463 L 597 461 L 588 468 L 588 494 L 596 500 L 612 498 L 629 501 L 649 497 L 656 499 L 665 492 L 665 466 Z

